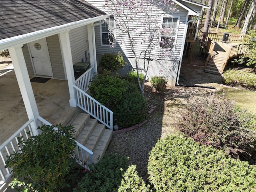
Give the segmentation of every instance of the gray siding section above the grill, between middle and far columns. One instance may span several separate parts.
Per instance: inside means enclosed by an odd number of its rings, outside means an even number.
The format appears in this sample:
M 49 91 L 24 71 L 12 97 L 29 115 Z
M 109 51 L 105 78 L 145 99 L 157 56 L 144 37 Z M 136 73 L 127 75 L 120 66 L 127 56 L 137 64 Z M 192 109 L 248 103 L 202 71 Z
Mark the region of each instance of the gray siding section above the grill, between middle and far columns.
M 85 51 L 89 50 L 87 26 L 70 30 L 69 38 L 73 64 L 81 62 Z

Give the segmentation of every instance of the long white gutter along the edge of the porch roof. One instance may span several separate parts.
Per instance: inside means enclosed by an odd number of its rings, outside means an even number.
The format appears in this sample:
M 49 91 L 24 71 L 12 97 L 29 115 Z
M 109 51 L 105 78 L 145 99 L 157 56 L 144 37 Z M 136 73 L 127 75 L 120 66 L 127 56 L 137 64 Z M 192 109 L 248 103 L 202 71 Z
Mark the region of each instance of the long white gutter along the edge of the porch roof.
M 48 36 L 52 36 L 54 34 L 58 34 L 60 32 L 66 31 L 66 30 L 71 30 L 74 28 L 78 28 L 80 26 L 84 26 L 84 25 L 87 25 L 87 24 L 90 24 L 93 22 L 97 22 L 99 20 L 104 20 L 108 17 L 109 17 L 108 15 L 101 15 L 101 16 L 97 16 L 94 18 L 88 18 L 88 19 L 84 19 L 84 20 L 80 20 L 80 21 L 76 21 L 76 22 L 72 22 L 72 23 L 67 23 L 67 24 L 60 25 L 60 26 L 55 26 L 55 27 L 31 32 L 28 34 L 22 34 L 19 36 L 2 39 L 2 40 L 0 40 L 0 50 L 6 50 L 8 48 L 12 48 L 12 47 L 15 47 L 18 45 L 23 45 L 28 42 L 32 42 L 32 41 L 35 41 L 35 40 L 38 40 L 41 38 L 46 38 Z

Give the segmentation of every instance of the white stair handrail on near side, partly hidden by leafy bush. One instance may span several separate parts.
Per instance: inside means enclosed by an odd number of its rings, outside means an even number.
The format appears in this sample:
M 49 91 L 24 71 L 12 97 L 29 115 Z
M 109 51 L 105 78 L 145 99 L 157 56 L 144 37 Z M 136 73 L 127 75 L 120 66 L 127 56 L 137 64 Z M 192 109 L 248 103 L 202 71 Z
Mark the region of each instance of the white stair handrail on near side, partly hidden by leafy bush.
M 47 120 L 45 120 L 40 116 L 38 117 L 38 120 L 40 120 L 45 125 L 52 126 L 50 122 L 48 122 Z M 54 130 L 57 131 L 58 128 L 54 127 Z M 83 146 L 81 143 L 79 143 L 76 140 L 76 147 L 74 149 L 74 154 L 72 155 L 72 157 L 76 159 L 76 162 L 78 164 L 84 167 L 88 167 L 89 164 L 92 164 L 92 155 L 93 155 L 93 152 L 90 149 L 88 149 L 86 146 Z M 88 162 L 88 158 L 89 158 L 89 162 Z

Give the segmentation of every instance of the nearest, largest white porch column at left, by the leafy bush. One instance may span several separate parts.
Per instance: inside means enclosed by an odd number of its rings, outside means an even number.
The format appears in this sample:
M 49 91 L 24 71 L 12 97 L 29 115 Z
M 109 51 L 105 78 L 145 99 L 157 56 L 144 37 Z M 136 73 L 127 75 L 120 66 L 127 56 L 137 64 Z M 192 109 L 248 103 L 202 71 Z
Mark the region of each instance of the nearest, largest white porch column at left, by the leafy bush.
M 26 62 L 23 56 L 21 48 L 22 46 L 23 45 L 9 48 L 9 53 L 12 58 L 14 72 L 18 81 L 18 85 L 20 87 L 20 93 L 22 95 L 26 112 L 28 114 L 28 119 L 34 120 L 31 123 L 32 131 L 35 135 L 37 135 L 38 130 L 36 129 L 38 128 L 38 126 L 40 126 L 40 122 L 38 120 L 39 112 L 36 106 L 36 99 L 34 97 L 32 86 L 30 83 L 30 78 L 28 75 L 28 70 L 26 67 Z

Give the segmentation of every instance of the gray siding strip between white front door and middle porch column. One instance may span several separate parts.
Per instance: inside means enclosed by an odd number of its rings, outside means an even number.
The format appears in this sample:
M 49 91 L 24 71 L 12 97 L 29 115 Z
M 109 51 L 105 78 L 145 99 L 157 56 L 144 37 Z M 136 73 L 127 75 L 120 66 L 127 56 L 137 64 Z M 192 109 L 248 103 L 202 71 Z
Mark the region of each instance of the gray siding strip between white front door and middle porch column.
M 58 34 L 46 38 L 54 79 L 66 80 Z

